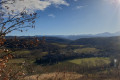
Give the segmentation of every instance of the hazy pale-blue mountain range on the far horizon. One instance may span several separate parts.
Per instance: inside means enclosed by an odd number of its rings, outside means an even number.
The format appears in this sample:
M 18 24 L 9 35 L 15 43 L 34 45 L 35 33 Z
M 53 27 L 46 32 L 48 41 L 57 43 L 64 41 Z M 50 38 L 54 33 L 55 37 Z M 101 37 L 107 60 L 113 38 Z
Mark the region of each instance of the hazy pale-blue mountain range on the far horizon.
M 39 35 L 36 35 L 39 36 Z M 94 37 L 114 37 L 120 36 L 120 31 L 115 33 L 99 33 L 99 34 L 83 34 L 83 35 L 45 35 L 46 37 L 58 37 L 58 38 L 65 38 L 69 40 L 77 40 L 81 38 L 94 38 Z M 39 36 L 40 37 L 40 36 Z

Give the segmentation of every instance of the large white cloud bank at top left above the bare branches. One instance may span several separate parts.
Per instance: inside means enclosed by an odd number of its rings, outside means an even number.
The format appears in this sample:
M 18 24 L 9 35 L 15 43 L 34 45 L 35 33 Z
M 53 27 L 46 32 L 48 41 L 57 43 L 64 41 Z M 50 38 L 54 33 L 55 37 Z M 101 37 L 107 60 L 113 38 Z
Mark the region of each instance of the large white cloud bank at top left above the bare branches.
M 69 6 L 69 3 L 67 3 L 65 0 L 24 0 L 24 1 L 16 0 L 14 4 L 3 4 L 2 6 L 8 12 L 10 10 L 14 10 L 15 12 L 21 12 L 23 11 L 24 8 L 26 8 L 28 12 L 34 12 L 36 10 L 45 10 L 50 5 Z M 6 9 L 5 6 L 8 6 L 9 9 Z

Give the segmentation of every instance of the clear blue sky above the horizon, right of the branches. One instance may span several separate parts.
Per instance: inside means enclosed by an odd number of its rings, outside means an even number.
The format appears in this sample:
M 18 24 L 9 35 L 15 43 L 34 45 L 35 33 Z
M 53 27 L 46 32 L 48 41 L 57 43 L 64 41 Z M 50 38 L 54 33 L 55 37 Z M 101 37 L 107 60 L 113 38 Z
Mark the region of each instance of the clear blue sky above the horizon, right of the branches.
M 79 35 L 120 31 L 120 1 L 66 0 L 37 10 L 36 28 L 9 35 Z

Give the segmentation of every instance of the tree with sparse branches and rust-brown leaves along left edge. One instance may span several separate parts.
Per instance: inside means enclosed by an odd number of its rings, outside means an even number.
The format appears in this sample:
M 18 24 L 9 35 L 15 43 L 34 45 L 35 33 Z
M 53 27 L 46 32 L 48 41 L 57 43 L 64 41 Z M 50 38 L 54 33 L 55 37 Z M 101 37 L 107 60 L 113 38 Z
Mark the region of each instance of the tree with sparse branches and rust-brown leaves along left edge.
M 28 13 L 26 8 L 21 12 L 16 12 L 11 10 L 10 7 L 5 6 L 5 4 L 14 5 L 15 2 L 16 0 L 0 0 L 0 48 L 4 46 L 6 41 L 4 37 L 10 32 L 14 30 L 23 32 L 27 28 L 35 28 L 37 13 Z M 24 72 L 21 69 L 15 72 L 11 66 L 10 68 L 6 67 L 7 62 L 13 58 L 13 55 L 9 53 L 10 50 L 1 48 L 0 53 L 3 52 L 8 54 L 0 58 L 0 80 L 20 80 Z

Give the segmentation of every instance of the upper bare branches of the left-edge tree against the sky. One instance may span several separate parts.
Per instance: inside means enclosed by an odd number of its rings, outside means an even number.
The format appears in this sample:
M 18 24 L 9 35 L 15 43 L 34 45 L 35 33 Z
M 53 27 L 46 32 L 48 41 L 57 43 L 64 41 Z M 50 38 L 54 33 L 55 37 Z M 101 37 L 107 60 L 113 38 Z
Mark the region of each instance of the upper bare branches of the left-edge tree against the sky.
M 0 36 L 17 30 L 23 32 L 27 27 L 35 28 L 35 18 L 37 13 L 28 13 L 26 8 L 21 12 L 10 10 L 10 7 L 4 4 L 14 5 L 16 0 L 1 0 L 0 1 Z M 19 0 L 24 1 L 24 0 Z M 4 7 L 4 8 L 3 8 Z M 8 12 L 6 12 L 8 10 Z

